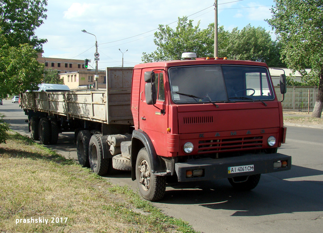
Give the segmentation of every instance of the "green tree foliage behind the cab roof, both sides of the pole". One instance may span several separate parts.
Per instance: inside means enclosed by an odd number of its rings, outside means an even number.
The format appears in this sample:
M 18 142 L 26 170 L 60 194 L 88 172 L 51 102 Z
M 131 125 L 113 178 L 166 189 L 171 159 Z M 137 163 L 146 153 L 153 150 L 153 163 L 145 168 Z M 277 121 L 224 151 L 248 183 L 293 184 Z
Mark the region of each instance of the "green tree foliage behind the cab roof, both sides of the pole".
M 198 22 L 187 17 L 178 19 L 177 27 L 159 25 L 155 32 L 154 43 L 157 50 L 151 54 L 143 53 L 143 62 L 179 60 L 183 52 L 195 52 L 197 57 L 213 57 L 214 23 L 206 29 L 200 29 Z M 242 30 L 234 28 L 232 32 L 218 28 L 218 54 L 235 60 L 251 60 L 266 62 L 270 67 L 284 67 L 280 61 L 280 44 L 272 41 L 265 28 L 247 25 Z

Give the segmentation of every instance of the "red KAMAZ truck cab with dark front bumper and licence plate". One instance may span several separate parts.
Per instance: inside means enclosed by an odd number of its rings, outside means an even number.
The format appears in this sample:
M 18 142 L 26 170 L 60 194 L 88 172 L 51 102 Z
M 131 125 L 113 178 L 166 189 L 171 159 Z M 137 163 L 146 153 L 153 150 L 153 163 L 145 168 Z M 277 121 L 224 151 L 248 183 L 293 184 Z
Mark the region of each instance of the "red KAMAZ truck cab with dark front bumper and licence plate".
M 167 175 L 179 182 L 228 178 L 235 188 L 252 189 L 261 173 L 291 167 L 290 156 L 277 153 L 286 128 L 265 63 L 200 58 L 136 65 L 131 110 L 132 174 L 146 199 L 155 198 L 152 180 Z M 138 162 L 136 140 L 147 141 L 149 160 Z

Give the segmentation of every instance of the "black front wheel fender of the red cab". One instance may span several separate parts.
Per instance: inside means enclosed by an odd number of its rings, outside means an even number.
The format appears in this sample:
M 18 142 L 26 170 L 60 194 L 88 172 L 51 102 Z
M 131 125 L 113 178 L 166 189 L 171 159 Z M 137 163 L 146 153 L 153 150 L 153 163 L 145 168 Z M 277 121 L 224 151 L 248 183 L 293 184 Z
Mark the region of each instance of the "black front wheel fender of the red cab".
M 131 167 L 136 167 L 138 152 L 141 148 L 146 147 L 148 155 L 151 158 L 151 172 L 155 175 L 170 175 L 167 171 L 165 162 L 157 155 L 154 145 L 148 134 L 141 129 L 133 130 L 131 141 Z M 136 179 L 136 169 L 131 169 L 132 180 Z

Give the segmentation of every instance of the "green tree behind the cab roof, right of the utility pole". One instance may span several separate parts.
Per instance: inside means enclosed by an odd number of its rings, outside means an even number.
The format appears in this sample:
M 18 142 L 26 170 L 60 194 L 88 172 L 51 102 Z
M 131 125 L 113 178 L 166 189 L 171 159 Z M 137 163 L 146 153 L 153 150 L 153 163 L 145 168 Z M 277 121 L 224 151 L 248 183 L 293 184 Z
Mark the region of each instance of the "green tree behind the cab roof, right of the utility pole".
M 234 28 L 226 35 L 222 33 L 222 36 L 226 37 L 226 44 L 219 44 L 219 56 L 233 60 L 265 62 L 269 67 L 285 67 L 280 61 L 281 44 L 273 41 L 265 28 L 255 28 L 248 24 L 242 30 Z

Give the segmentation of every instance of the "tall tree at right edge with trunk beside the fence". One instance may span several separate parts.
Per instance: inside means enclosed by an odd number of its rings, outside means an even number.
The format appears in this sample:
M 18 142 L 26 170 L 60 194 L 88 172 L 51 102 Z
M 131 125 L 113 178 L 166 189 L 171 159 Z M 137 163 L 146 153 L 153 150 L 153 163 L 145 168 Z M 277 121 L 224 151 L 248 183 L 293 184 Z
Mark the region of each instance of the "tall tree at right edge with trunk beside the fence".
M 312 117 L 321 117 L 323 108 L 323 1 L 275 0 L 273 17 L 267 22 L 275 28 L 283 47 L 281 54 L 287 67 L 307 75 L 307 83 L 317 83 L 318 95 Z

